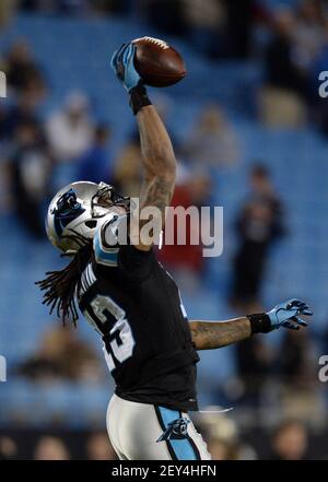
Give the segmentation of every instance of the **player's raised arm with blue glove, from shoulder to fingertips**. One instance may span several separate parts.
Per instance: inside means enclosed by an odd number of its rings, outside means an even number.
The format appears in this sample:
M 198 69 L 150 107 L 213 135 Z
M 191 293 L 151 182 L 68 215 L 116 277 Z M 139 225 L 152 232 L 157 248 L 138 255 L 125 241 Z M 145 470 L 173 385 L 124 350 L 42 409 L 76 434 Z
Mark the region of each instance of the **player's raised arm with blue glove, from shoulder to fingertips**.
M 112 58 L 112 67 L 129 93 L 130 106 L 137 116 L 143 166 L 140 210 L 149 208 L 145 219 L 131 213 L 130 239 L 141 250 L 150 250 L 155 235 L 165 223 L 165 208 L 169 205 L 175 186 L 176 161 L 168 133 L 155 108 L 151 105 L 142 79 L 134 68 L 136 46 L 124 44 Z M 151 222 L 150 232 L 143 226 Z

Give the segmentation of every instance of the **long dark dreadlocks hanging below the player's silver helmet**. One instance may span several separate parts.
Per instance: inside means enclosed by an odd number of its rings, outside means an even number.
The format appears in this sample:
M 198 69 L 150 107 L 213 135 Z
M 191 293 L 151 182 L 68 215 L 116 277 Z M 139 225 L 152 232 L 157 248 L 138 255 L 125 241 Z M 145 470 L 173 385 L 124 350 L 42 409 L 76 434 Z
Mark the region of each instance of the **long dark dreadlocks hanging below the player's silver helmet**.
M 52 314 L 56 308 L 57 317 L 65 325 L 72 321 L 77 326 L 79 319 L 77 308 L 77 295 L 81 286 L 81 274 L 86 268 L 92 256 L 92 239 L 87 239 L 73 230 L 73 234 L 65 236 L 67 239 L 75 242 L 79 246 L 78 252 L 72 261 L 60 271 L 46 272 L 47 278 L 36 281 L 44 293 L 43 305 L 49 306 L 49 313 Z M 60 255 L 61 258 L 71 256 L 69 254 Z

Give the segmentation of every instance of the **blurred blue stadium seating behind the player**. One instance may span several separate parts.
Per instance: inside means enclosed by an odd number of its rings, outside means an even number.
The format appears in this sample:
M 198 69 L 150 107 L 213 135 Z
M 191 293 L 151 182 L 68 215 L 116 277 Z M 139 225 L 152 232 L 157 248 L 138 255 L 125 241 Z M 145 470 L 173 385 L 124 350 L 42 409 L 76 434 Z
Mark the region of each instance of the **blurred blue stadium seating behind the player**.
M 58 25 L 51 17 L 21 16 L 1 33 L 0 50 L 16 36 L 26 37 L 49 79 L 51 97 L 44 115 L 57 108 L 70 90 L 83 90 L 90 95 L 96 117 L 113 125 L 116 151 L 131 131 L 133 118 L 126 105 L 126 93 L 109 72 L 109 52 L 117 47 L 117 38 L 125 40 L 145 33 L 156 34 L 143 24 L 127 20 L 62 20 Z M 224 252 L 208 262 L 203 289 L 192 296 L 184 296 L 188 314 L 191 318 L 210 319 L 233 315 L 225 303 L 236 242 L 233 223 L 246 196 L 249 166 L 262 161 L 269 165 L 284 200 L 289 231 L 285 240 L 272 252 L 263 287 L 266 303 L 270 305 L 286 296 L 303 296 L 313 304 L 317 313 L 316 330 L 320 330 L 326 324 L 328 285 L 327 142 L 312 130 L 268 130 L 250 120 L 253 92 L 261 77 L 258 66 L 211 66 L 209 75 L 207 61 L 185 45 L 183 48 L 187 66 L 190 66 L 189 75 L 184 85 L 176 85 L 167 91 L 168 94 L 165 92 L 177 101 L 168 116 L 172 131 L 177 139 L 184 139 L 200 106 L 214 98 L 226 108 L 242 145 L 239 163 L 211 173 L 213 202 L 224 205 Z M 10 366 L 14 366 L 35 351 L 39 337 L 50 326 L 51 319 L 39 303 L 40 294 L 34 281 L 59 261 L 52 248 L 33 242 L 14 216 L 1 215 L 0 263 L 0 353 L 7 355 Z M 98 343 L 86 324 L 81 324 L 81 332 L 92 343 Z M 200 364 L 203 403 L 213 400 L 212 385 L 233 374 L 230 350 L 203 354 Z M 97 410 L 103 413 L 108 393 L 107 387 L 93 387 L 89 392 L 87 387 L 63 385 L 48 391 L 11 380 L 5 390 L 0 388 L 1 405 L 8 407 L 8 403 L 1 403 L 7 397 L 14 412 L 15 401 L 21 409 L 19 400 L 24 399 L 26 413 L 33 407 L 38 420 L 42 413 L 46 416 L 48 408 L 54 413 L 69 410 L 71 414 L 73 404 L 77 412 L 72 423 L 81 422 L 83 416 Z M 38 403 L 37 409 L 35 403 Z M 44 412 L 43 404 L 47 407 Z

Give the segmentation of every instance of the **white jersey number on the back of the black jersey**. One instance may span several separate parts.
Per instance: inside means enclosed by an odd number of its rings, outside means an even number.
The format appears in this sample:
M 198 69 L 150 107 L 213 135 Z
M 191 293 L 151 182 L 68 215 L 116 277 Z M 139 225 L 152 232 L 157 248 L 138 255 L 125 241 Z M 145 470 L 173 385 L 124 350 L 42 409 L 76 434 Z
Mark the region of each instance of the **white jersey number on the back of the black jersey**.
M 109 371 L 116 367 L 116 363 L 124 363 L 132 356 L 134 339 L 131 327 L 126 318 L 126 313 L 109 296 L 97 295 L 91 302 L 92 310 L 101 324 L 116 319 L 109 331 L 110 341 L 104 348 L 105 358 Z M 110 316 L 112 315 L 112 316 Z

